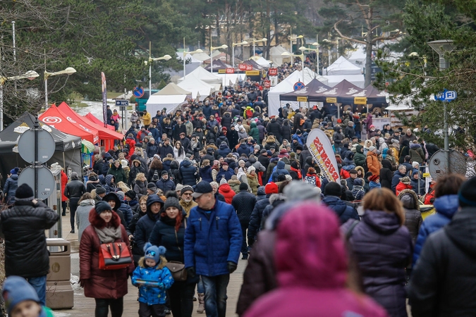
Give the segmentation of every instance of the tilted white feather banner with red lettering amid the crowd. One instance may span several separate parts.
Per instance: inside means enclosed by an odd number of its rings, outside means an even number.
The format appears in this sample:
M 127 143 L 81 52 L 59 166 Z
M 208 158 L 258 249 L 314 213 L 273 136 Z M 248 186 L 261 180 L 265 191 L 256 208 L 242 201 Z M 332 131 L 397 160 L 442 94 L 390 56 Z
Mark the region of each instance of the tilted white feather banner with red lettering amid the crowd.
M 307 135 L 307 149 L 314 157 L 314 161 L 321 168 L 323 175 L 329 182 L 340 182 L 334 149 L 329 137 L 321 129 L 312 129 Z

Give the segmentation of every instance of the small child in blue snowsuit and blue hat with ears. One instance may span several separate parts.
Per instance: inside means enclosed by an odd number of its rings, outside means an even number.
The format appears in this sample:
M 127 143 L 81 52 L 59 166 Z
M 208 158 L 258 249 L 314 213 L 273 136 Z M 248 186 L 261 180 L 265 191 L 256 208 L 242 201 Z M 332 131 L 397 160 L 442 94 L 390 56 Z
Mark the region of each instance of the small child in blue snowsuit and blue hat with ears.
M 166 290 L 173 284 L 173 278 L 164 257 L 165 248 L 147 242 L 145 256 L 140 258 L 132 277 L 134 286 L 139 287 L 139 317 L 164 317 Z

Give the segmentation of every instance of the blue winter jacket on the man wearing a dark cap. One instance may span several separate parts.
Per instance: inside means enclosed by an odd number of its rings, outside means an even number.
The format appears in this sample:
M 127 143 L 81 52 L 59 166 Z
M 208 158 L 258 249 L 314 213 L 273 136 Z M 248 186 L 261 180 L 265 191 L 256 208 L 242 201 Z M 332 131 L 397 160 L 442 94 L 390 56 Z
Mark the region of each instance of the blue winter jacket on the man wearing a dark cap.
M 238 263 L 242 242 L 233 206 L 216 201 L 211 213 L 193 207 L 185 229 L 185 268 L 210 277 L 228 274 L 228 262 Z

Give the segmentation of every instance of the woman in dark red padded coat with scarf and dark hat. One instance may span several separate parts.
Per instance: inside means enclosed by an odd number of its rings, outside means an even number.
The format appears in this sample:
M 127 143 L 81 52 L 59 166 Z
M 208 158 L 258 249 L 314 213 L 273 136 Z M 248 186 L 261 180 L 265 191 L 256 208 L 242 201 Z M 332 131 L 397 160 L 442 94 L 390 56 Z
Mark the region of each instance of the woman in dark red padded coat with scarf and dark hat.
M 89 214 L 91 225 L 84 230 L 80 242 L 80 285 L 85 297 L 96 301 L 95 317 L 121 317 L 123 297 L 128 292 L 128 275 L 134 271 L 131 261 L 127 268 L 102 270 L 99 268 L 99 249 L 102 243 L 121 242 L 129 247 L 126 229 L 118 214 L 106 201 L 99 201 Z

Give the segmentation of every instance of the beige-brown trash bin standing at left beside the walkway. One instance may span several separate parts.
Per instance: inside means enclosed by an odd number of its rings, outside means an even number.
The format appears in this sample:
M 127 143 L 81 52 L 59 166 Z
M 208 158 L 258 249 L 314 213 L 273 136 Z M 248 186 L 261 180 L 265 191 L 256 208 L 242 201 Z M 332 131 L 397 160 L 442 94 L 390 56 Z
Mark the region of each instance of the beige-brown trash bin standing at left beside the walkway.
M 74 306 L 71 287 L 71 243 L 61 238 L 47 239 L 49 273 L 47 275 L 47 306 L 71 309 Z

